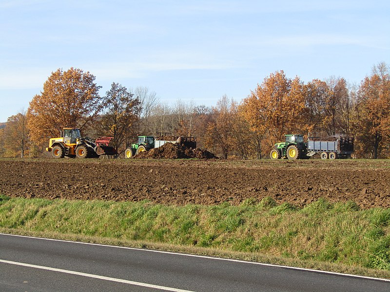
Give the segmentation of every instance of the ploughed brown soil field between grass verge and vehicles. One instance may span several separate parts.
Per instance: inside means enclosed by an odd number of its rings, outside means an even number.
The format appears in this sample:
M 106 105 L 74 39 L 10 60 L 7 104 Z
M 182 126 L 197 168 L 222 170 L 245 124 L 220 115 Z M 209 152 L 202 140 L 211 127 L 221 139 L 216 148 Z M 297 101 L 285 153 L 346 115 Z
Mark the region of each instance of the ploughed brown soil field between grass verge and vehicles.
M 11 197 L 238 204 L 270 196 L 305 205 L 320 197 L 390 207 L 390 161 L 151 159 L 0 160 Z

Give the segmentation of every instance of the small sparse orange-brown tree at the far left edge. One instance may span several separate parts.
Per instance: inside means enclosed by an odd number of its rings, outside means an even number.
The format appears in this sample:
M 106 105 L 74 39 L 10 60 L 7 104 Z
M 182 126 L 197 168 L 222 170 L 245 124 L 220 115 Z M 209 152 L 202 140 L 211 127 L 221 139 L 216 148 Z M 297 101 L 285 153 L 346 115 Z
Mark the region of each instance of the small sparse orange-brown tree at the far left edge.
M 7 156 L 23 158 L 30 144 L 25 111 L 8 118 L 3 135 L 4 149 Z

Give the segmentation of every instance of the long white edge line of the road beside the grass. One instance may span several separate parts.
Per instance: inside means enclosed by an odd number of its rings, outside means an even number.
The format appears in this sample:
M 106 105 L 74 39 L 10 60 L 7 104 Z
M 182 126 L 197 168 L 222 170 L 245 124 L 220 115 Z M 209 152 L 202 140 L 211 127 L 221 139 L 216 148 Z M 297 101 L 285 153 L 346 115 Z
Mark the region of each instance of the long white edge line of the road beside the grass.
M 180 254 L 180 253 L 174 253 L 174 252 L 164 252 L 164 251 L 149 250 L 149 249 L 136 248 L 136 247 L 116 246 L 116 245 L 90 243 L 90 242 L 82 242 L 82 241 L 71 241 L 71 240 L 54 239 L 54 238 L 33 237 L 33 236 L 25 236 L 25 235 L 7 234 L 7 233 L 0 233 L 0 235 L 9 235 L 9 236 L 15 236 L 15 237 L 27 237 L 27 238 L 35 238 L 35 239 L 41 239 L 41 240 L 52 240 L 52 241 L 60 241 L 60 242 L 68 242 L 68 243 L 71 242 L 71 243 L 86 244 L 86 245 L 97 245 L 97 246 L 129 249 L 129 250 L 136 250 L 136 251 L 143 251 L 143 252 L 168 254 L 168 255 L 175 255 L 175 256 L 192 256 L 192 257 L 200 257 L 200 258 L 207 258 L 207 259 L 214 259 L 214 260 L 232 261 L 232 262 L 244 263 L 244 264 L 253 264 L 253 265 L 276 267 L 276 268 L 286 268 L 286 269 L 300 270 L 300 271 L 309 271 L 309 272 L 315 272 L 315 273 L 321 273 L 321 274 L 334 274 L 334 275 L 340 275 L 340 276 L 348 276 L 348 277 L 355 277 L 355 278 L 363 278 L 363 279 L 380 280 L 380 281 L 390 282 L 390 279 L 384 279 L 384 278 L 374 278 L 374 277 L 367 277 L 367 276 L 360 276 L 360 275 L 353 275 L 353 274 L 343 274 L 343 273 L 321 271 L 321 270 L 313 270 L 313 269 L 306 269 L 306 268 L 298 268 L 298 267 L 266 264 L 266 263 L 251 262 L 251 261 L 232 259 L 232 258 L 213 257 L 213 256 L 199 256 L 199 255 L 190 255 L 190 254 Z

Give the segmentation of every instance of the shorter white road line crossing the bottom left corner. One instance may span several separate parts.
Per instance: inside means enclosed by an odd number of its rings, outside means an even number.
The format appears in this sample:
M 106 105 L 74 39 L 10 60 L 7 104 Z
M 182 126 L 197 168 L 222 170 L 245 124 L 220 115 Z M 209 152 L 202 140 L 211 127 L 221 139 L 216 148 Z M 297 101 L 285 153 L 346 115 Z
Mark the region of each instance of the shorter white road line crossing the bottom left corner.
M 160 290 L 165 290 L 165 291 L 192 292 L 192 291 L 189 291 L 189 290 L 182 290 L 182 289 L 176 289 L 176 288 L 171 288 L 171 287 L 164 287 L 164 286 L 159 286 L 159 285 L 153 285 L 153 284 L 129 281 L 129 280 L 124 280 L 124 279 L 117 279 L 117 278 L 112 278 L 112 277 L 106 277 L 106 276 L 100 276 L 100 275 L 94 275 L 94 274 L 87 274 L 87 273 L 81 273 L 81 272 L 76 272 L 76 271 L 69 271 L 69 270 L 62 270 L 62 269 L 57 269 L 57 268 L 45 267 L 45 266 L 32 265 L 32 264 L 27 264 L 27 263 L 20 263 L 20 262 L 5 260 L 5 259 L 0 259 L 0 262 L 6 263 L 6 264 L 11 264 L 11 265 L 18 265 L 18 266 L 23 266 L 23 267 L 35 268 L 35 269 L 48 270 L 48 271 L 59 272 L 59 273 L 74 274 L 74 275 L 78 275 L 78 276 L 96 278 L 96 279 L 100 279 L 100 280 L 107 280 L 107 281 L 113 281 L 113 282 L 130 284 L 130 285 L 136 285 L 136 286 L 160 289 Z

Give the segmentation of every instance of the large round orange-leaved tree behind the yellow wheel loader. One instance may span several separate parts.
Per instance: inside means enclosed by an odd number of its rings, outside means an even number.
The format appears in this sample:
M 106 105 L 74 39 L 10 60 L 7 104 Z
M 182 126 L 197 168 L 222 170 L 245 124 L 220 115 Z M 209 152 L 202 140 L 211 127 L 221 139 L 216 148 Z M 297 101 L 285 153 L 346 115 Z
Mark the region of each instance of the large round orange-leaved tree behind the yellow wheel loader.
M 43 146 L 64 127 L 87 127 L 101 110 L 101 87 L 94 81 L 94 75 L 80 69 L 52 72 L 27 111 L 31 140 Z

